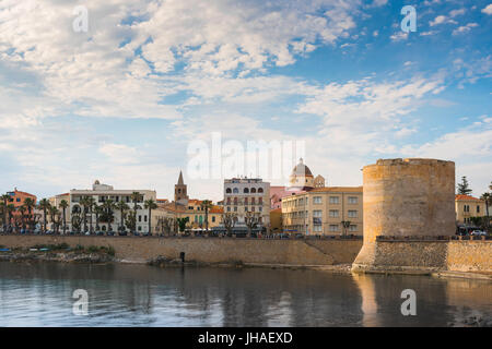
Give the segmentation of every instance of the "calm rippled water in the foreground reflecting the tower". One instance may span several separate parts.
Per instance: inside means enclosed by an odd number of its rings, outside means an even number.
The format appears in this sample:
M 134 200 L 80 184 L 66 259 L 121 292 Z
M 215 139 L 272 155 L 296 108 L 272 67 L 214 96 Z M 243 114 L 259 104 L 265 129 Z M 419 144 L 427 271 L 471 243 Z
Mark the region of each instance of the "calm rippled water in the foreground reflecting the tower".
M 89 292 L 89 315 L 72 292 Z M 417 316 L 400 312 L 417 292 Z M 263 268 L 0 262 L 0 326 L 446 326 L 492 315 L 492 282 Z

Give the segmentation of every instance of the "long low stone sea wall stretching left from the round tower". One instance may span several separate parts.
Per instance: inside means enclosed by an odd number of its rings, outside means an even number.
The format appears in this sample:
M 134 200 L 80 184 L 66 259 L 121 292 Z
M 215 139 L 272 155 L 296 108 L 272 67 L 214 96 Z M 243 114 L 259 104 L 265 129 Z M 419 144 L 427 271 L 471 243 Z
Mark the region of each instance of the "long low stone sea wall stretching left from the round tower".
M 157 256 L 201 263 L 332 265 L 352 263 L 362 240 L 261 240 L 220 238 L 134 238 L 0 236 L 0 245 L 31 248 L 67 243 L 70 246 L 113 246 L 118 260 L 145 262 Z

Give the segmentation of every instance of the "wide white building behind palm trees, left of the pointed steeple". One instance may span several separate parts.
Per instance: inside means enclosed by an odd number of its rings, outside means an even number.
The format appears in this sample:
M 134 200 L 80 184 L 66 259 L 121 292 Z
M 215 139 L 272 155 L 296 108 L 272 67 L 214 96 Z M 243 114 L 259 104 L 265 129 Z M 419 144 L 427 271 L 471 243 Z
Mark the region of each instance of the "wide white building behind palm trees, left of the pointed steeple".
M 138 232 L 148 232 L 149 231 L 149 209 L 144 208 L 144 202 L 147 200 L 153 200 L 156 202 L 156 192 L 153 190 L 141 190 L 141 189 L 132 189 L 132 190 L 115 190 L 112 185 L 107 184 L 101 184 L 99 181 L 95 181 L 92 185 L 92 190 L 77 190 L 73 189 L 70 191 L 70 213 L 71 217 L 74 216 L 74 214 L 79 213 L 82 216 L 82 205 L 81 201 L 84 197 L 92 197 L 94 200 L 94 203 L 98 206 L 102 206 L 104 202 L 107 200 L 112 200 L 115 204 L 118 204 L 119 202 L 126 203 L 130 210 L 133 210 L 133 202 L 131 200 L 131 196 L 134 192 L 140 193 L 140 198 L 137 202 L 138 209 L 137 209 L 137 231 Z M 113 231 L 117 232 L 118 228 L 121 226 L 121 214 L 118 209 L 113 210 L 114 220 L 110 224 L 110 228 Z M 96 231 L 96 215 L 92 213 L 86 214 L 87 219 L 87 230 L 91 230 L 91 221 L 92 221 L 92 231 Z M 71 221 L 68 221 L 71 228 Z M 108 224 L 99 221 L 99 230 L 105 231 L 107 230 Z M 81 230 L 84 229 L 84 225 L 82 222 Z

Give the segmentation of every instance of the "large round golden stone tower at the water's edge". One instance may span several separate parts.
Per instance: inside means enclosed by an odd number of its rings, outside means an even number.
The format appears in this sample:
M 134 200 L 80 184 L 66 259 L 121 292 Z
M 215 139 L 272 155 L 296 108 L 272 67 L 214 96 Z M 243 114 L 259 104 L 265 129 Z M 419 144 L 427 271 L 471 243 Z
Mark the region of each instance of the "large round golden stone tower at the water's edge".
M 455 163 L 379 159 L 363 168 L 364 243 L 353 269 L 374 265 L 376 239 L 455 233 Z

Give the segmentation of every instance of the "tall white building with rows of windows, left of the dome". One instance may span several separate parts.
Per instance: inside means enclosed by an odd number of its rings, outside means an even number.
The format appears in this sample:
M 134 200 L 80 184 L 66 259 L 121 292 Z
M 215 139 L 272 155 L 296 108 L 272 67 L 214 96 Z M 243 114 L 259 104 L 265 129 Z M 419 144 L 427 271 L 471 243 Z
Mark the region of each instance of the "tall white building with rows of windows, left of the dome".
M 224 213 L 237 215 L 236 227 L 244 225 L 246 212 L 259 214 L 262 227 L 270 225 L 270 183 L 260 178 L 224 180 Z

